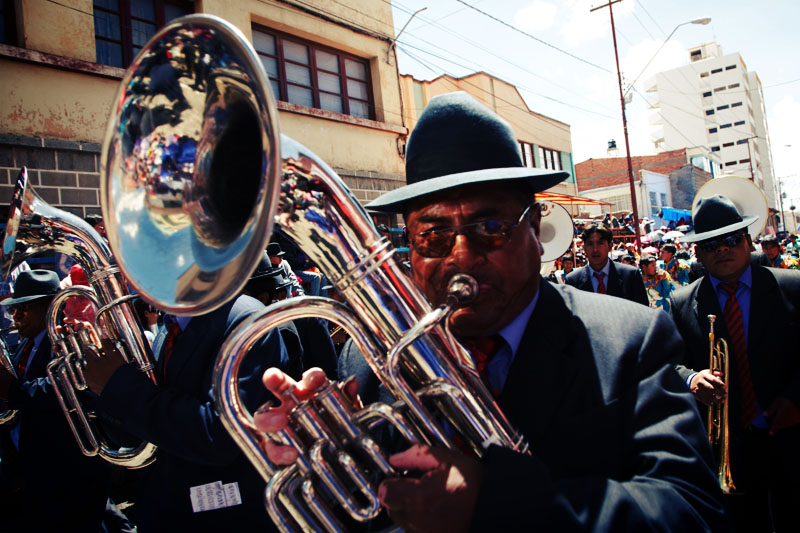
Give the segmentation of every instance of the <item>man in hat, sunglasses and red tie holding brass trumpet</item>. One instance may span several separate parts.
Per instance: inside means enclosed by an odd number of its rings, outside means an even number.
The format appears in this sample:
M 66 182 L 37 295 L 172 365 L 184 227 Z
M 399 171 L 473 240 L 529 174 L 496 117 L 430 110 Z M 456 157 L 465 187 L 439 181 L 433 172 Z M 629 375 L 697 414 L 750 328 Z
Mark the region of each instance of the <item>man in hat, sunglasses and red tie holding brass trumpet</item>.
M 673 318 L 686 342 L 677 367 L 696 399 L 729 406 L 729 496 L 738 531 L 796 531 L 800 504 L 800 273 L 751 262 L 747 226 L 722 195 L 693 213 L 705 276 L 674 293 Z M 729 351 L 729 376 L 709 369 L 709 315 Z M 738 493 L 738 494 L 737 494 Z

